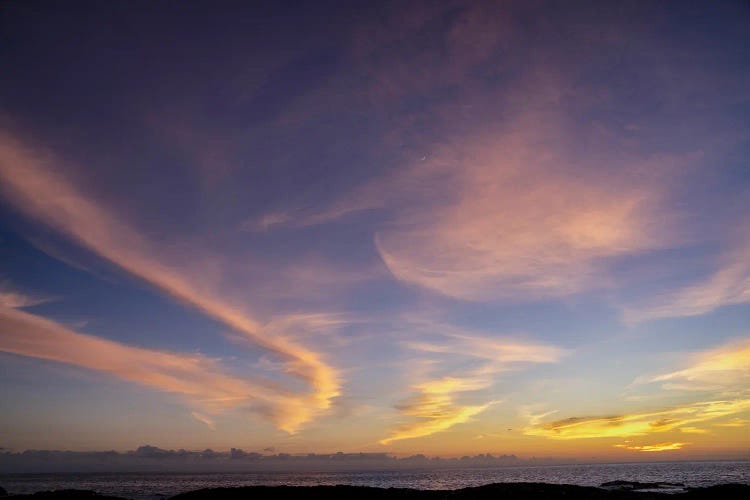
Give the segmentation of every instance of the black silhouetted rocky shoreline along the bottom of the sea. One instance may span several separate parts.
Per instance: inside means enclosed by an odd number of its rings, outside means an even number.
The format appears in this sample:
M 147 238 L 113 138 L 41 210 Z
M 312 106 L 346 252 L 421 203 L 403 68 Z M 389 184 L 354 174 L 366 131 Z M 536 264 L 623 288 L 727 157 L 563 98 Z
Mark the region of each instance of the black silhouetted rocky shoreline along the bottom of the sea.
M 171 497 L 174 500 L 746 500 L 750 485 L 723 484 L 685 488 L 680 484 L 613 481 L 601 487 L 545 483 L 498 483 L 460 490 L 413 490 L 365 486 L 246 486 L 209 488 Z M 661 490 L 661 491 L 660 491 Z M 0 490 L 2 494 L 2 490 Z M 5 498 L 31 500 L 121 500 L 87 490 L 42 491 Z

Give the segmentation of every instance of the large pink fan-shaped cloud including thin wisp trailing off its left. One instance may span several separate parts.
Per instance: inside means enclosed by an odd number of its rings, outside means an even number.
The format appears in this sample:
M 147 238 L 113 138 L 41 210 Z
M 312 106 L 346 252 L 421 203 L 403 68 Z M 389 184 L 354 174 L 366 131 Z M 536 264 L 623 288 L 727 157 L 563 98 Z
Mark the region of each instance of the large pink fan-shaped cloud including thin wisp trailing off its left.
M 700 155 L 605 154 L 607 142 L 620 147 L 610 136 L 582 155 L 574 145 L 601 131 L 556 111 L 554 89 L 564 82 L 540 80 L 524 82 L 529 105 L 509 105 L 505 122 L 433 145 L 428 157 L 317 213 L 286 214 L 285 223 L 378 209 L 385 224 L 375 244 L 393 276 L 459 299 L 535 300 L 611 287 L 618 259 L 677 244 L 665 179 Z

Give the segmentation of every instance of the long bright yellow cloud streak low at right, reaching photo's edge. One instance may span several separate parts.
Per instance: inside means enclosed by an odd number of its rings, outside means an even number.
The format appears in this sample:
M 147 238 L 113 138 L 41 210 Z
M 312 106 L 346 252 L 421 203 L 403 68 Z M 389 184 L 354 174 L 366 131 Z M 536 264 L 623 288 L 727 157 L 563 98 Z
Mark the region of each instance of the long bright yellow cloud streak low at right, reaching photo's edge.
M 645 436 L 707 422 L 750 410 L 750 399 L 705 401 L 645 413 L 604 417 L 571 417 L 532 423 L 524 429 L 530 436 L 552 439 L 588 439 Z

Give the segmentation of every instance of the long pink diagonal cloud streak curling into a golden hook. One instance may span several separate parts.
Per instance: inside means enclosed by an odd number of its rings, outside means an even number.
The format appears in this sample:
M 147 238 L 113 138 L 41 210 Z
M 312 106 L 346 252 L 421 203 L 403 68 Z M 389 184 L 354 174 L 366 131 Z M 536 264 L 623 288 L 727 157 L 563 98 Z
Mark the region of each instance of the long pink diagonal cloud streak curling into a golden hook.
M 0 192 L 21 212 L 54 227 L 82 246 L 242 333 L 248 340 L 279 356 L 287 373 L 307 381 L 311 392 L 300 396 L 287 412 L 274 415 L 288 432 L 331 408 L 340 394 L 336 369 L 317 353 L 282 335 L 269 335 L 243 309 L 212 293 L 205 280 L 192 276 L 193 265 L 178 269 L 173 260 L 160 260 L 160 249 L 124 221 L 84 196 L 60 175 L 49 157 L 0 132 Z M 188 259 L 190 260 L 190 259 Z M 167 263 L 169 262 L 169 264 Z

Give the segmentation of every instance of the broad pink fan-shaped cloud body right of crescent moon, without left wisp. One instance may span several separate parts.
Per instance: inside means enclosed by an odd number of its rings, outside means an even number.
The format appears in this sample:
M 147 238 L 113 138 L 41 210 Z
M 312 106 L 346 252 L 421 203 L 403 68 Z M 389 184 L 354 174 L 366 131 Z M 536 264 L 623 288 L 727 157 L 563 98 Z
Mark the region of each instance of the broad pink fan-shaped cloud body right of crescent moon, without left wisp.
M 396 278 L 466 300 L 562 297 L 609 286 L 613 259 L 667 244 L 658 184 L 587 167 L 542 120 L 522 117 L 410 171 L 429 190 L 376 238 Z

